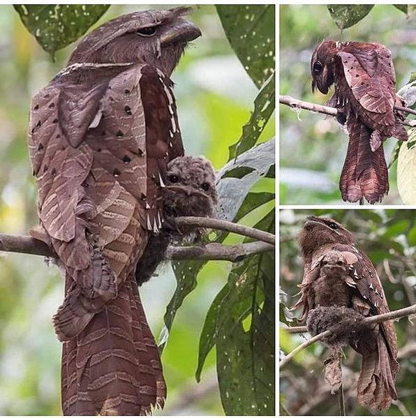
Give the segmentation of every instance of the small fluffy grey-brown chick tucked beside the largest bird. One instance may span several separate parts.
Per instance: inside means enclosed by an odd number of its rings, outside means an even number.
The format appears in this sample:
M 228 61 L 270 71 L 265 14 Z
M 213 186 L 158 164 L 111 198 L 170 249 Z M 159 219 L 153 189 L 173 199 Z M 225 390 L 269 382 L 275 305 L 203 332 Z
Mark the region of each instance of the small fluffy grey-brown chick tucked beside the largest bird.
M 178 227 L 178 216 L 211 218 L 218 201 L 215 173 L 211 163 L 202 157 L 177 157 L 168 164 L 165 187 L 162 189 L 163 218 L 161 231 L 152 234 L 136 268 L 139 285 L 151 278 L 166 257 L 173 242 L 180 242 L 190 234 L 202 234 L 198 227 Z

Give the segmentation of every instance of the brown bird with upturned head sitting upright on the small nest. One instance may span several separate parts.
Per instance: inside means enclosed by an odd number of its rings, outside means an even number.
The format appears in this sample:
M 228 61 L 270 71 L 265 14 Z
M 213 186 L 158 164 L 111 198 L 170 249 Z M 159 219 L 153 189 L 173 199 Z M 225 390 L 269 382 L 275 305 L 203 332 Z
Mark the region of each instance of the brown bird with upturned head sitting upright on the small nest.
M 318 306 L 327 307 L 334 318 L 334 307 L 351 308 L 364 317 L 389 312 L 376 269 L 369 257 L 355 247 L 354 236 L 341 223 L 310 216 L 299 235 L 299 244 L 304 276 L 302 296 L 294 308 L 302 306 L 302 319 Z M 389 408 L 392 399 L 397 398 L 394 381 L 399 371 L 393 321 L 357 332 L 350 345 L 362 355 L 359 402 L 369 408 Z

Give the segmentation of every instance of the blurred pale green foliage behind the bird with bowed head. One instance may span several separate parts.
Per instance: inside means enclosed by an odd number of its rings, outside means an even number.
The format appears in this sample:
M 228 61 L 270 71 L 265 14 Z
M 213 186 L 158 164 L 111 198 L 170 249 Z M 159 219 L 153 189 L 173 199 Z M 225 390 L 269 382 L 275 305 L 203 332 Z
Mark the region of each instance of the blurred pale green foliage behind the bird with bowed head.
M 280 94 L 320 104 L 329 100 L 329 94 L 312 94 L 309 68 L 315 45 L 325 38 L 387 45 L 392 51 L 398 89 L 408 82 L 410 73 L 416 68 L 414 13 L 406 18 L 399 8 L 376 5 L 364 19 L 343 31 L 336 26 L 325 5 L 282 5 L 279 18 Z M 341 203 L 338 183 L 348 136 L 339 124 L 322 114 L 305 110 L 295 112 L 281 105 L 279 130 L 280 202 Z M 395 144 L 394 139 L 384 144 L 387 163 Z M 395 162 L 389 170 L 390 191 L 384 204 L 401 204 L 396 186 L 396 165 Z

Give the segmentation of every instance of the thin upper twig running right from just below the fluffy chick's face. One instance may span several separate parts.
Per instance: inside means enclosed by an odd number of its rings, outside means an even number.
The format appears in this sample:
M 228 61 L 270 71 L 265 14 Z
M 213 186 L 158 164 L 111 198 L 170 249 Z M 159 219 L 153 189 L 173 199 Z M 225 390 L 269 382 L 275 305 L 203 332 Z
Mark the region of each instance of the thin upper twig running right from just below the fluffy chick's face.
M 276 237 L 270 232 L 256 230 L 255 228 L 245 225 L 239 225 L 239 223 L 233 223 L 229 221 L 222 221 L 221 219 L 213 218 L 200 218 L 198 216 L 181 216 L 175 218 L 176 223 L 180 226 L 199 226 L 205 228 L 211 228 L 213 230 L 223 230 L 228 232 L 235 232 L 235 234 L 244 235 L 258 239 L 258 241 L 267 242 L 267 244 L 275 244 Z

